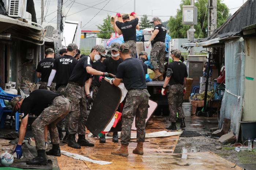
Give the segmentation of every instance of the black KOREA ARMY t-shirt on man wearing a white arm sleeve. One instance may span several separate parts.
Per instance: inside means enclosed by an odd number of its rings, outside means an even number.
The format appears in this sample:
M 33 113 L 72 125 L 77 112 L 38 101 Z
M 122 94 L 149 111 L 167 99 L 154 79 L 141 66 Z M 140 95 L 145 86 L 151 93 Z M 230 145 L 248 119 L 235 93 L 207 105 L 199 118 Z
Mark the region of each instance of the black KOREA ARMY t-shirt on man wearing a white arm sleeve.
M 56 89 L 60 85 L 68 84 L 68 79 L 77 62 L 77 59 L 71 55 L 63 55 L 55 59 L 52 69 L 56 70 Z

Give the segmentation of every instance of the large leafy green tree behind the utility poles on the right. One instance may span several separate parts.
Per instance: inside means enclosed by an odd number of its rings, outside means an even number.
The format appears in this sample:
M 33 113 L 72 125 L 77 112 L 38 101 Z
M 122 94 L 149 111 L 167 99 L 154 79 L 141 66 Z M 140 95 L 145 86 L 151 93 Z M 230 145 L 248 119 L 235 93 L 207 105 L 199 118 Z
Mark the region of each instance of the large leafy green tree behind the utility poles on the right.
M 197 25 L 194 26 L 196 29 L 194 37 L 196 39 L 207 37 L 207 32 L 205 32 L 208 24 L 207 1 L 208 0 L 197 0 L 195 3 L 198 10 Z M 180 8 L 177 9 L 176 17 L 170 17 L 169 19 L 168 27 L 170 28 L 170 35 L 172 38 L 187 38 L 187 30 L 189 30 L 189 25 L 182 25 L 183 5 L 190 5 L 190 0 L 181 0 L 181 4 L 179 5 Z M 227 20 L 228 16 L 229 9 L 227 8 L 227 5 L 222 3 L 222 0 L 217 0 L 217 28 L 219 28 Z

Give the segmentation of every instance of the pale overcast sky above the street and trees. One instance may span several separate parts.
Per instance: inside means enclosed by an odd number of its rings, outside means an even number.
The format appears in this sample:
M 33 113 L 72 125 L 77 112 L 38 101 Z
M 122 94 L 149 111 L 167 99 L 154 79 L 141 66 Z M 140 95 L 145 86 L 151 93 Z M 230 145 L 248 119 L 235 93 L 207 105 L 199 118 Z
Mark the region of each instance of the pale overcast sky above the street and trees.
M 237 11 L 238 9 L 237 7 L 240 7 L 243 4 L 243 1 L 245 3 L 247 0 L 222 0 L 222 1 L 230 9 L 229 13 L 233 14 L 235 11 Z M 181 0 L 136 0 L 136 12 L 138 15 L 146 14 L 148 15 L 148 18 L 151 19 L 152 10 L 153 10 L 153 16 L 159 16 L 159 18 L 162 19 L 162 21 L 164 22 L 164 21 L 167 21 L 170 18 L 170 16 L 176 15 L 176 11 L 179 8 L 180 2 Z M 41 0 L 34 0 L 34 3 L 36 8 L 37 18 L 41 18 Z M 45 22 L 56 23 L 57 22 L 56 21 L 57 0 L 44 0 L 44 3 L 45 3 L 45 9 L 44 9 Z M 103 19 L 107 16 L 107 14 L 112 16 L 112 15 L 115 15 L 116 12 L 130 13 L 134 11 L 134 0 L 63 0 L 63 4 L 64 4 L 64 7 L 66 8 L 66 13 L 67 13 L 66 19 L 77 20 L 77 21 L 81 20 L 82 26 L 83 26 L 82 30 L 97 30 L 96 25 L 101 24 L 103 22 Z M 94 8 L 89 8 L 85 5 L 88 5 L 89 7 L 93 6 Z M 99 9 L 95 9 L 95 8 L 99 8 Z M 103 10 L 100 11 L 101 8 L 107 11 L 103 11 Z M 235 9 L 231 9 L 231 8 L 235 8 Z M 109 11 L 113 11 L 113 12 L 109 12 Z M 37 19 L 37 22 L 39 22 L 39 19 Z

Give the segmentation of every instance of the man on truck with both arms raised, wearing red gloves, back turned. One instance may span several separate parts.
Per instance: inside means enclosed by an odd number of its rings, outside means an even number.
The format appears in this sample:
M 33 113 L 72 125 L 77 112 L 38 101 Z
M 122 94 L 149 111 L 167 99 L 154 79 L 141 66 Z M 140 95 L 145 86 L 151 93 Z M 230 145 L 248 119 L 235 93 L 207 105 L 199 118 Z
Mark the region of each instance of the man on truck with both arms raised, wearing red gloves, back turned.
M 130 20 L 129 14 L 123 14 L 123 23 L 118 21 L 118 17 L 121 17 L 120 13 L 116 13 L 115 24 L 122 31 L 123 40 L 128 44 L 131 57 L 136 57 L 136 26 L 139 22 L 139 18 L 135 12 L 131 12 L 131 16 L 135 19 Z

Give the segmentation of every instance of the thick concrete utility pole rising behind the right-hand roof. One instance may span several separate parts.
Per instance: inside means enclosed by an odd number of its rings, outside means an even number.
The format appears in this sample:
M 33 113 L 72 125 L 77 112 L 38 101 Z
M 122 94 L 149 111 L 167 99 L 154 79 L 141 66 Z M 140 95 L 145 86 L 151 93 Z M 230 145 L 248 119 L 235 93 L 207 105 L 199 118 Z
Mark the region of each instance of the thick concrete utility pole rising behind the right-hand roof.
M 208 33 L 210 36 L 217 28 L 217 0 L 209 0 L 209 12 L 208 12 Z

